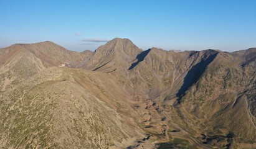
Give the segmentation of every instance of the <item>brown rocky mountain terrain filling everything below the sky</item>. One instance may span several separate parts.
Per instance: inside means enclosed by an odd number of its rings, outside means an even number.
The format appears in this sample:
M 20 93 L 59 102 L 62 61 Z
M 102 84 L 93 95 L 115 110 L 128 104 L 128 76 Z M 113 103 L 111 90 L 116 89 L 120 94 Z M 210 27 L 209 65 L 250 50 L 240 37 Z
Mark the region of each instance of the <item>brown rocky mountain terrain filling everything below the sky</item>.
M 0 48 L 0 148 L 256 148 L 256 48 Z

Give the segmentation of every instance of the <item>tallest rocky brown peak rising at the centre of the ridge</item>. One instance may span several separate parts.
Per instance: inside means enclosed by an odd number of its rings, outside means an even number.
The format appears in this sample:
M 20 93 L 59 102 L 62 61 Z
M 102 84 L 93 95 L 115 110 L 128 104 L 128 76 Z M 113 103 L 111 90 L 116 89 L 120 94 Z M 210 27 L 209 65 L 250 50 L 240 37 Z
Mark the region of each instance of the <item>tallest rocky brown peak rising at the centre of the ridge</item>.
M 105 72 L 128 69 L 131 61 L 141 52 L 142 50 L 128 38 L 113 38 L 97 48 L 92 57 L 84 61 L 80 67 Z

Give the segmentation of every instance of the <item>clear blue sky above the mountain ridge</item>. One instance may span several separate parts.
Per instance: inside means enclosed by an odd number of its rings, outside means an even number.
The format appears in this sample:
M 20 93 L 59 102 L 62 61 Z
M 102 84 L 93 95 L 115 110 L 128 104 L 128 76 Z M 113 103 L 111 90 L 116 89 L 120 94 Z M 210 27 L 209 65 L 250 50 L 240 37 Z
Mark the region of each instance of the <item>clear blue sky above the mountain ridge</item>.
M 0 0 L 0 47 L 52 41 L 81 52 L 115 37 L 143 50 L 256 47 L 255 0 Z

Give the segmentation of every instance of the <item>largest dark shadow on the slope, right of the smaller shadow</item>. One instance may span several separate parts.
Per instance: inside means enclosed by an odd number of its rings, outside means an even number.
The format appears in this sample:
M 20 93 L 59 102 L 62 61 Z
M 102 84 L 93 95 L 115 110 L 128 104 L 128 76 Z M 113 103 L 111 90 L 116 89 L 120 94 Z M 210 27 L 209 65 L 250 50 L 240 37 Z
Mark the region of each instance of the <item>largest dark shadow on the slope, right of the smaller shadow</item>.
M 179 89 L 176 96 L 179 97 L 178 102 L 180 103 L 181 97 L 186 93 L 192 84 L 196 83 L 199 78 L 201 78 L 204 71 L 206 71 L 207 66 L 216 58 L 218 53 L 213 53 L 207 58 L 203 58 L 199 63 L 192 66 L 191 70 L 187 72 L 187 75 L 184 78 L 184 83 Z

